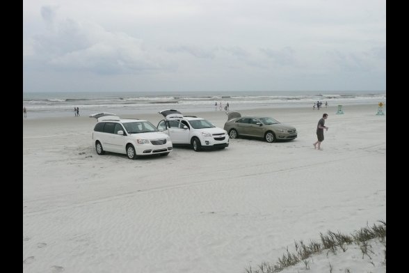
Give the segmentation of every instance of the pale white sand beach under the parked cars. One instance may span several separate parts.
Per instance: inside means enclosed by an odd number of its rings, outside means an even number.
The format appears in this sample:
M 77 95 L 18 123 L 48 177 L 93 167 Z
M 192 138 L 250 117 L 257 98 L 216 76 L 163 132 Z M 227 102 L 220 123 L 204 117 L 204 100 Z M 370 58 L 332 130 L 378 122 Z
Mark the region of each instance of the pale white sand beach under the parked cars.
M 23 272 L 246 272 L 295 240 L 386 221 L 386 117 L 377 110 L 241 111 L 294 125 L 298 138 L 136 160 L 97 155 L 94 118 L 23 119 Z M 325 112 L 323 150 L 314 150 Z M 222 128 L 227 119 L 184 114 Z

